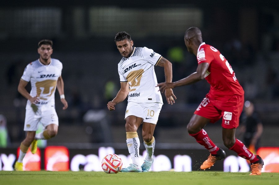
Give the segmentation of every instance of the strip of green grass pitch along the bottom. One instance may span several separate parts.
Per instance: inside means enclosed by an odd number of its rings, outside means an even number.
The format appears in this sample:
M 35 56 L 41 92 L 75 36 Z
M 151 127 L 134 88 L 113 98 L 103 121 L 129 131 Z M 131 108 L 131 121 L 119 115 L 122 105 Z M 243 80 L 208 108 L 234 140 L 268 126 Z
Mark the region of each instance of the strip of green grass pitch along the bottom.
M 73 171 L 0 171 L 1 185 L 257 185 L 279 184 L 279 173 L 230 173 L 222 171 L 146 172 L 106 174 Z

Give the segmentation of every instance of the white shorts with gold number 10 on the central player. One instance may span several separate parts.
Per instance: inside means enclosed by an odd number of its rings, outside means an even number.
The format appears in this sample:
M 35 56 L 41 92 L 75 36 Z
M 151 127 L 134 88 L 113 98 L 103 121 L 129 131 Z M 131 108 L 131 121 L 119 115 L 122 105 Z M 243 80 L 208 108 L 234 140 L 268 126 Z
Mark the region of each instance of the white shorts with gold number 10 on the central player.
M 162 103 L 135 103 L 128 102 L 125 119 L 128 116 L 137 116 L 143 119 L 143 122 L 157 124 Z

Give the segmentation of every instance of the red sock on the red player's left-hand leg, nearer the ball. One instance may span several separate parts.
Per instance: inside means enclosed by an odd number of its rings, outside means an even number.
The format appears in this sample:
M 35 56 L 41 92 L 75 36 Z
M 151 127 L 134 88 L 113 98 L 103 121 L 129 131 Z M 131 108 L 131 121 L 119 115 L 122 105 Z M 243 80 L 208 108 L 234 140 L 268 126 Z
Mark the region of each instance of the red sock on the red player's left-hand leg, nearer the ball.
M 213 155 L 217 154 L 219 148 L 213 143 L 213 141 L 210 140 L 210 138 L 208 137 L 204 129 L 201 129 L 201 131 L 196 134 L 189 134 L 189 135 L 193 136 L 196 139 L 196 141 L 200 145 L 203 145 L 206 149 L 208 149 L 211 154 Z

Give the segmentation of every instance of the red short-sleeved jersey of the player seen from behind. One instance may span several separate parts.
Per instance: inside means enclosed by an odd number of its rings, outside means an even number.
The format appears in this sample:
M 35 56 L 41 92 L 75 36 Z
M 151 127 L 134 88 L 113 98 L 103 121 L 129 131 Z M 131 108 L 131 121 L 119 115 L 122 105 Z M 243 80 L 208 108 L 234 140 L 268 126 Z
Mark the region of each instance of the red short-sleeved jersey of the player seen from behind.
M 205 79 L 210 84 L 208 97 L 220 101 L 228 100 L 232 95 L 244 95 L 231 65 L 214 47 L 201 43 L 197 52 L 197 62 L 209 63 Z

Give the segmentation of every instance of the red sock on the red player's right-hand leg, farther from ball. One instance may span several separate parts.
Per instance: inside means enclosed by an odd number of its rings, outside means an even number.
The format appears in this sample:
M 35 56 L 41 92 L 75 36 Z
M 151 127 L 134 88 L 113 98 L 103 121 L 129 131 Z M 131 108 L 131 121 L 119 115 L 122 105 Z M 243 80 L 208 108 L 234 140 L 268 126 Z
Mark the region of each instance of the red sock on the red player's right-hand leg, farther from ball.
M 235 151 L 239 157 L 247 159 L 251 163 L 259 160 L 256 155 L 248 150 L 246 146 L 238 139 L 235 139 L 235 144 L 232 146 L 232 148 L 230 148 L 230 150 Z

